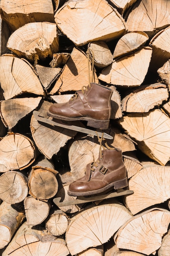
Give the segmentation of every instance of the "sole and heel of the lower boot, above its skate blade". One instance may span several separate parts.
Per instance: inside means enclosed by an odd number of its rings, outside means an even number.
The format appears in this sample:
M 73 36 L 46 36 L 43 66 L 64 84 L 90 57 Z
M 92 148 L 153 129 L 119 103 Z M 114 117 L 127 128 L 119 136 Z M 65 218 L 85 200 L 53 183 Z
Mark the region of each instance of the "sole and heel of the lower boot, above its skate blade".
M 68 190 L 67 193 L 68 193 L 68 195 L 73 195 L 73 196 L 95 195 L 98 193 L 102 193 L 102 192 L 110 189 L 111 187 L 113 187 L 116 190 L 116 189 L 123 189 L 126 186 L 128 186 L 128 178 L 127 177 L 124 178 L 123 180 L 118 180 L 118 181 L 112 182 L 101 189 L 97 189 L 97 190 L 93 190 L 93 191 L 86 191 L 86 192 L 72 192 L 72 191 Z

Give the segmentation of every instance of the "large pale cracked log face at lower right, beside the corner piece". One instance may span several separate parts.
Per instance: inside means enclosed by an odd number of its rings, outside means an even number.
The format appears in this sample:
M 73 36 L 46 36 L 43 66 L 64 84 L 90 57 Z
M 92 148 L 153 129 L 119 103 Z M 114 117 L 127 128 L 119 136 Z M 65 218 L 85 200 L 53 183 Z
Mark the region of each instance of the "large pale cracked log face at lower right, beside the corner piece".
M 169 223 L 170 212 L 166 209 L 153 208 L 144 211 L 121 226 L 114 236 L 115 243 L 121 249 L 146 255 L 154 254 L 161 246 Z

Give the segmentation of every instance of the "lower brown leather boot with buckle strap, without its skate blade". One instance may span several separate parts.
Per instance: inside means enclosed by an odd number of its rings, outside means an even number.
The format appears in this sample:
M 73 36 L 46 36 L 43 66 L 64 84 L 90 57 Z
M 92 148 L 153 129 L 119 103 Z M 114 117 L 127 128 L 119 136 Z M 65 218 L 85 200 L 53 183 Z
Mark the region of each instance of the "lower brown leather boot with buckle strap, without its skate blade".
M 87 164 L 86 174 L 69 185 L 68 195 L 94 195 L 107 189 L 128 186 L 121 149 L 102 150 L 95 163 Z

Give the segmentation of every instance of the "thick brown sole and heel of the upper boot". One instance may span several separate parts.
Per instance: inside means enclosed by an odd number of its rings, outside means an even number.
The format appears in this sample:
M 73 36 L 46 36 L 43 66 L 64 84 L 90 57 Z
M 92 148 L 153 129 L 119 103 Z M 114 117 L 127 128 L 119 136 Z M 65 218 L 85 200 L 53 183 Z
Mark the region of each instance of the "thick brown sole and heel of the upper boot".
M 64 121 L 87 121 L 87 126 L 102 129 L 102 130 L 108 129 L 109 121 L 110 121 L 110 120 L 97 120 L 91 117 L 63 117 L 60 115 L 55 115 L 49 111 L 47 111 L 47 115 L 49 117 L 53 117 L 55 119 L 60 119 Z

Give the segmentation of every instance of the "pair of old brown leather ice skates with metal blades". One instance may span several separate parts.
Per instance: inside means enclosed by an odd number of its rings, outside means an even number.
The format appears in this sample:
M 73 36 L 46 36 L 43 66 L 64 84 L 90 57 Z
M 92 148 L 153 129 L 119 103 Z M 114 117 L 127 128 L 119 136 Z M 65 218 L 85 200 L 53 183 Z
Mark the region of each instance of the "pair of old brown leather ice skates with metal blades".
M 48 110 L 47 115 L 53 117 L 54 121 L 38 117 L 38 112 L 34 112 L 39 121 L 44 123 L 53 122 L 53 125 L 62 126 L 86 132 L 87 134 L 95 134 L 94 130 L 87 128 L 79 128 L 75 126 L 66 126 L 59 124 L 58 119 L 63 121 L 87 121 L 87 126 L 105 130 L 109 126 L 111 106 L 110 99 L 113 91 L 110 88 L 97 84 L 89 83 L 87 87 L 75 92 L 74 96 L 66 103 L 54 103 Z M 105 138 L 112 138 L 106 133 L 102 133 Z M 98 133 L 99 136 L 99 133 Z M 89 163 L 86 166 L 84 177 L 72 182 L 69 185 L 68 195 L 80 196 L 77 202 L 86 202 L 93 200 L 101 200 L 101 198 L 117 197 L 119 195 L 128 195 L 132 191 L 124 190 L 128 186 L 127 172 L 122 159 L 121 149 L 105 149 L 100 150 L 99 157 L 96 162 Z M 117 190 L 114 193 L 101 195 L 110 190 Z M 123 190 L 122 190 L 123 189 Z M 100 194 L 100 195 L 98 195 Z M 94 198 L 84 198 L 88 195 L 97 195 Z M 83 198 L 82 198 L 83 197 Z M 55 201 L 54 201 L 55 202 Z M 77 203 L 74 201 L 74 203 Z M 56 200 L 56 204 L 59 202 Z M 71 203 L 70 203 L 71 204 Z

